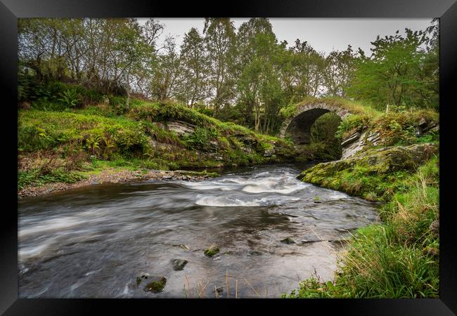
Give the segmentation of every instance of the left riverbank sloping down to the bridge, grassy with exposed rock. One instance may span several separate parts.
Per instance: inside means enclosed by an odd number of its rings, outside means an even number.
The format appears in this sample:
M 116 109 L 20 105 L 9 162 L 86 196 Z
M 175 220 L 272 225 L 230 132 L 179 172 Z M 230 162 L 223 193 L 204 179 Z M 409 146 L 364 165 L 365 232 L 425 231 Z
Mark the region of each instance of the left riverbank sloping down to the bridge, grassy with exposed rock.
M 18 109 L 18 190 L 75 183 L 105 169 L 146 172 L 332 159 L 325 143 L 295 147 L 172 102 L 105 96 L 50 82 Z

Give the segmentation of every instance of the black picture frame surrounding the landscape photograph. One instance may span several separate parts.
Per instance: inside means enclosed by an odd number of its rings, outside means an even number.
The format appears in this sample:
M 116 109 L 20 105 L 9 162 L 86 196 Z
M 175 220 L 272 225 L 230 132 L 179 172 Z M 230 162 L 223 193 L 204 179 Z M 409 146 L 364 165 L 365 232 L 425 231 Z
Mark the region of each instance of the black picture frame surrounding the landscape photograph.
M 1 220 L 0 312 L 4 315 L 86 315 L 95 308 L 118 310 L 121 305 L 157 312 L 159 305 L 167 310 L 186 306 L 189 310 L 211 314 L 233 310 L 244 311 L 247 305 L 269 311 L 297 308 L 307 312 L 340 315 L 455 315 L 457 313 L 457 242 L 453 232 L 456 211 L 451 203 L 453 168 L 453 126 L 451 109 L 457 70 L 457 4 L 456 0 L 311 0 L 311 1 L 228 1 L 195 3 L 193 1 L 140 0 L 0 0 L 0 89 L 1 148 L 8 176 L 4 178 L 4 204 Z M 75 17 L 269 17 L 269 18 L 440 18 L 440 298 L 430 299 L 316 299 L 316 300 L 115 300 L 115 299 L 18 299 L 18 217 L 17 213 L 17 62 L 18 18 Z M 455 105 L 454 105 L 455 106 Z M 15 118 L 15 119 L 14 119 Z M 8 122 L 8 124 L 5 124 Z M 444 148 L 444 149 L 442 149 Z M 11 167 L 10 167 L 11 166 Z M 5 173 L 4 173 L 5 174 Z M 153 305 L 151 305 L 153 304 Z M 205 306 L 197 307 L 197 304 Z M 165 306 L 163 306 L 165 307 Z

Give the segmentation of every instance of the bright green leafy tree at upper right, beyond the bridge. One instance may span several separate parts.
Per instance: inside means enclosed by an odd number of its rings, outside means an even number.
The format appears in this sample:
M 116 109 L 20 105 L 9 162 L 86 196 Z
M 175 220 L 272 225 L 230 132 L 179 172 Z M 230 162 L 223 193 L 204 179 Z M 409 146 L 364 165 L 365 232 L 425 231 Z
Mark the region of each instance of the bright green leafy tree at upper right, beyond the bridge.
M 403 37 L 395 35 L 371 42 L 371 57 L 361 53 L 351 86 L 347 93 L 360 100 L 368 100 L 379 109 L 387 105 L 404 107 L 431 106 L 425 93 L 432 92 L 421 75 L 425 70 L 425 51 L 421 46 L 427 37 L 422 31 L 406 29 Z M 422 95 L 422 96 L 420 96 Z

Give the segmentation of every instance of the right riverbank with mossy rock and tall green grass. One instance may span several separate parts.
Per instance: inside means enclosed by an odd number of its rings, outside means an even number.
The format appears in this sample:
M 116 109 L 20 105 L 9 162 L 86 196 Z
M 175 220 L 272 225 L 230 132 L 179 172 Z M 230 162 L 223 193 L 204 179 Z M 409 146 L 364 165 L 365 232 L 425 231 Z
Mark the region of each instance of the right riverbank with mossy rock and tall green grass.
M 374 147 L 298 176 L 384 204 L 382 224 L 354 232 L 333 282 L 300 282 L 286 298 L 439 297 L 439 145 Z

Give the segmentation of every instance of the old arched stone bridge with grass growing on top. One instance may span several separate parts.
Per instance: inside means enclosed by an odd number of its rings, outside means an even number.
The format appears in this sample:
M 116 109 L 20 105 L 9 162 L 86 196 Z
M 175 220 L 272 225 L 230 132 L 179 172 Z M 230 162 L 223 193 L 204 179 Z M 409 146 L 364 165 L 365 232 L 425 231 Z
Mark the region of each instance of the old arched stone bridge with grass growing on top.
M 292 141 L 297 145 L 309 144 L 311 126 L 316 119 L 328 112 L 334 112 L 341 119 L 351 114 L 343 107 L 325 102 L 305 103 L 297 107 L 295 115 L 285 119 L 279 136 L 284 138 L 286 135 L 290 135 L 292 136 Z

